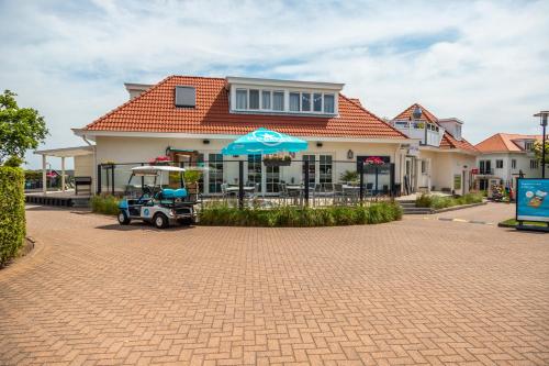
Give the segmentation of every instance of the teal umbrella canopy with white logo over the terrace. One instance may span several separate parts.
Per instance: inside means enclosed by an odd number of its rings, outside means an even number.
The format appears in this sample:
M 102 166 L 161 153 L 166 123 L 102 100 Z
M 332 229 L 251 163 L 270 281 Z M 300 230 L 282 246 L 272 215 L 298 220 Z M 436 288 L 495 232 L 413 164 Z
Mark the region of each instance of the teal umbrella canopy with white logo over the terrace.
M 251 154 L 276 154 L 298 153 L 307 149 L 307 142 L 277 131 L 258 129 L 242 137 L 238 137 L 221 153 L 223 155 L 251 155 Z

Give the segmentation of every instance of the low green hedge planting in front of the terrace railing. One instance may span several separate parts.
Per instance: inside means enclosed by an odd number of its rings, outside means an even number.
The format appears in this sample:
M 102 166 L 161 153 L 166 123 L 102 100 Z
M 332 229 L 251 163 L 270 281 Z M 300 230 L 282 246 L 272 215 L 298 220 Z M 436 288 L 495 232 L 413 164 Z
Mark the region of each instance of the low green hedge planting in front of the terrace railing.
M 200 225 L 214 226 L 334 226 L 376 224 L 400 220 L 402 208 L 393 202 L 372 203 L 371 206 L 243 209 L 214 203 L 199 212 Z

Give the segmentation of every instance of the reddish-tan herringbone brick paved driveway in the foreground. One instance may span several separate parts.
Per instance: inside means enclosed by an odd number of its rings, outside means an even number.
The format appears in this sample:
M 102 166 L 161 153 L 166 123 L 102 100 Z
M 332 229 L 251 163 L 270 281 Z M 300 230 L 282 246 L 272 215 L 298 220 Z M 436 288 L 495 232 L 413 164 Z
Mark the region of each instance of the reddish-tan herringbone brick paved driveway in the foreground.
M 549 364 L 549 236 L 27 218 L 42 244 L 0 271 L 1 365 Z

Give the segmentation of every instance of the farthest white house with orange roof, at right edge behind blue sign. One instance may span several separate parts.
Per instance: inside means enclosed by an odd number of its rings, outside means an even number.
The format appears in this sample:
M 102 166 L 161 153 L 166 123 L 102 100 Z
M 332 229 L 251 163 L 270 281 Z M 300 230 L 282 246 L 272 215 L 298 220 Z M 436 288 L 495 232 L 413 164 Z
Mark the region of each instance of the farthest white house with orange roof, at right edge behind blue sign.
M 525 178 L 541 177 L 541 164 L 534 154 L 534 143 L 541 135 L 496 133 L 475 145 L 479 175 L 478 189 L 488 189 L 491 180 L 514 187 L 520 174 Z

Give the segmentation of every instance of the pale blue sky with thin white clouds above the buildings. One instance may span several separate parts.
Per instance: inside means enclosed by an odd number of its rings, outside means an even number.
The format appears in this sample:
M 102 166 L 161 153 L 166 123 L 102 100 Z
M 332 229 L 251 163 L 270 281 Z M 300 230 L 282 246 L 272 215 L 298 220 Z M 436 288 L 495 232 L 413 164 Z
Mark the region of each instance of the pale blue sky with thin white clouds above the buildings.
M 83 145 L 70 129 L 125 102 L 123 82 L 169 75 L 345 82 L 379 117 L 419 102 L 478 143 L 540 133 L 548 14 L 548 0 L 0 0 L 0 89 L 44 115 L 41 148 Z

